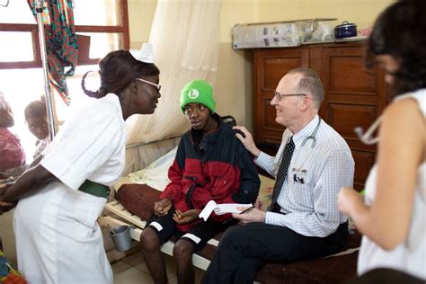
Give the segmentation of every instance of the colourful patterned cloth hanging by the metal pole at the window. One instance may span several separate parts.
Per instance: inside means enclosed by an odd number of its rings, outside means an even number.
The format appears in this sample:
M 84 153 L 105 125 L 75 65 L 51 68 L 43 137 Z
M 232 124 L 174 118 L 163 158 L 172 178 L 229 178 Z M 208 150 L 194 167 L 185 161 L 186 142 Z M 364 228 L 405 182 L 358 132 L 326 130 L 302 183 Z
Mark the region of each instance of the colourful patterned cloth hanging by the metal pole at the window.
M 27 0 L 37 19 L 36 2 Z M 48 53 L 49 81 L 64 102 L 69 105 L 66 77 L 74 75 L 78 59 L 77 37 L 74 30 L 73 0 L 47 0 L 48 9 L 42 13 L 46 50 Z M 65 72 L 65 67 L 70 67 Z

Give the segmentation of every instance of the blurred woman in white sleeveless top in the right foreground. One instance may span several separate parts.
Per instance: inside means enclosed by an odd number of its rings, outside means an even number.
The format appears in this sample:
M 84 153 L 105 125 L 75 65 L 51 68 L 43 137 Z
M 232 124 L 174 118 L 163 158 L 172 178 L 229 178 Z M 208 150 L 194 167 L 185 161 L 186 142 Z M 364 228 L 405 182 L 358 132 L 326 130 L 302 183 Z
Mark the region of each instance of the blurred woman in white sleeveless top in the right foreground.
M 369 63 L 374 58 L 385 69 L 395 99 L 378 119 L 365 200 L 349 188 L 339 193 L 339 209 L 364 235 L 353 283 L 426 281 L 425 14 L 424 0 L 397 1 L 379 15 L 368 41 Z M 363 142 L 377 140 L 369 135 L 377 124 Z

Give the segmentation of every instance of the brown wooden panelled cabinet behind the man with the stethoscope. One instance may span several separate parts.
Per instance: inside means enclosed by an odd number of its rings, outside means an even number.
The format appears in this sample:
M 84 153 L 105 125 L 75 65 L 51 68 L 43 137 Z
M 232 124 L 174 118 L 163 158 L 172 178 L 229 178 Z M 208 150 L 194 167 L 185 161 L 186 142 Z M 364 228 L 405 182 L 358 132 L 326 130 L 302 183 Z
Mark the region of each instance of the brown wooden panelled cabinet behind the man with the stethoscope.
M 297 48 L 254 50 L 254 139 L 271 154 L 280 144 L 284 128 L 275 122 L 271 107 L 280 78 L 296 67 L 309 67 L 324 84 L 319 114 L 351 147 L 355 160 L 354 187 L 362 189 L 374 164 L 376 146 L 364 145 L 353 129 L 368 129 L 389 101 L 385 72 L 364 67 L 364 43 L 345 42 Z

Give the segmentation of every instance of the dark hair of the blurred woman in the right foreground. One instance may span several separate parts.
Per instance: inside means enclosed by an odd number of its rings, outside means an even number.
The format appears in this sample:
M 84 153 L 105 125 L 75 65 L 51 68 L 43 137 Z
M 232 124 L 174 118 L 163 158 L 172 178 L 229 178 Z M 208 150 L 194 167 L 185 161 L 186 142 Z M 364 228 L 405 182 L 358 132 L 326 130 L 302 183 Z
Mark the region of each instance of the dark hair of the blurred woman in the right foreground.
M 366 66 L 389 55 L 399 63 L 394 94 L 426 87 L 426 1 L 400 0 L 380 13 L 368 40 Z

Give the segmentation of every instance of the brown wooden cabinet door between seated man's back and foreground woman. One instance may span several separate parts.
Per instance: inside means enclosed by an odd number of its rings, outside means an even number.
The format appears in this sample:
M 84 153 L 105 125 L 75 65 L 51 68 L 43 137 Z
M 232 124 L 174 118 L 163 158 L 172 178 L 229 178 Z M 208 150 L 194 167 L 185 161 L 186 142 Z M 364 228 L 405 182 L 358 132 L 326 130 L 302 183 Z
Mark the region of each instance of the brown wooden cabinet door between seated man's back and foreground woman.
M 385 76 L 378 67 L 366 70 L 362 44 L 324 47 L 321 54 L 325 93 L 320 115 L 351 147 L 354 187 L 362 189 L 375 162 L 376 146 L 361 143 L 353 129 L 367 130 L 386 107 Z

